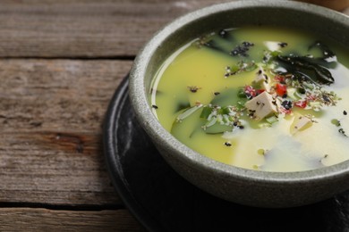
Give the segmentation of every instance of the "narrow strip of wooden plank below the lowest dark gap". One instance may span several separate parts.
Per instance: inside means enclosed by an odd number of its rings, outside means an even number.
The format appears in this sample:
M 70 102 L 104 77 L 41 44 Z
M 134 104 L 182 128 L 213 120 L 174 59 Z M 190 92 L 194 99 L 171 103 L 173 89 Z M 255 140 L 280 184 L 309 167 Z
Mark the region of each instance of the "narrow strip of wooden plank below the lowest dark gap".
M 0 208 L 0 231 L 118 231 L 146 230 L 128 211 L 52 211 Z

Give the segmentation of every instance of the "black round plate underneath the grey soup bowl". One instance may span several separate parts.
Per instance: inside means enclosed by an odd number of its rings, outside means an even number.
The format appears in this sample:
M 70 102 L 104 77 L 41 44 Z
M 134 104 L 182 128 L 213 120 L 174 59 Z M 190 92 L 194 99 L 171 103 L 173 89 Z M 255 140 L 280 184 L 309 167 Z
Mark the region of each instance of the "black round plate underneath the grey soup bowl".
M 149 231 L 349 229 L 349 193 L 297 208 L 263 209 L 229 203 L 192 186 L 163 160 L 137 123 L 128 77 L 109 104 L 103 136 L 117 194 Z

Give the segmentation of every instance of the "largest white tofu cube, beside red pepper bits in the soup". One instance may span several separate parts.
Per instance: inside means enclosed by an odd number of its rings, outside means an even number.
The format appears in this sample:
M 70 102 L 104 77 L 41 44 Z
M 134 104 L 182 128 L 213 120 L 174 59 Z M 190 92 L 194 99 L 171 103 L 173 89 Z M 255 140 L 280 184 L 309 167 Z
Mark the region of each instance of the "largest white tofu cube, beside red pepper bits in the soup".
M 253 119 L 262 120 L 268 115 L 277 112 L 277 100 L 268 94 L 267 91 L 264 91 L 248 101 L 245 107 L 251 112 Z

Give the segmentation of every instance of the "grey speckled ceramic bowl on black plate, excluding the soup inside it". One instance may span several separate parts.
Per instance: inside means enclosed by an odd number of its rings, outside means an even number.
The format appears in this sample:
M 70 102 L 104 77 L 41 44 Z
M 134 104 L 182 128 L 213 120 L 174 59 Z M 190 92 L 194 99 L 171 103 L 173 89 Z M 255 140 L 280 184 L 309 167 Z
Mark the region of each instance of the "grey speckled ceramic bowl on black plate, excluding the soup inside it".
M 167 24 L 137 55 L 130 74 L 130 98 L 140 125 L 183 178 L 234 203 L 293 207 L 316 203 L 349 189 L 349 161 L 318 170 L 267 172 L 216 162 L 180 143 L 163 128 L 149 105 L 149 87 L 159 65 L 192 38 L 243 25 L 277 25 L 328 35 L 349 47 L 349 17 L 293 1 L 236 1 L 190 12 Z

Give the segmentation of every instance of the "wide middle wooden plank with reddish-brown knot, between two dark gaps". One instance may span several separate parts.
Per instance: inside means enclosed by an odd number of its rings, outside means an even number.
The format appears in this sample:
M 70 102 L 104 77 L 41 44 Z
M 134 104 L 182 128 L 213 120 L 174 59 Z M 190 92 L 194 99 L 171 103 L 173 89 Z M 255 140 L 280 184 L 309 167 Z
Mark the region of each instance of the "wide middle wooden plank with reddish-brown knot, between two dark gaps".
M 102 152 L 128 61 L 0 61 L 0 202 L 121 203 Z

